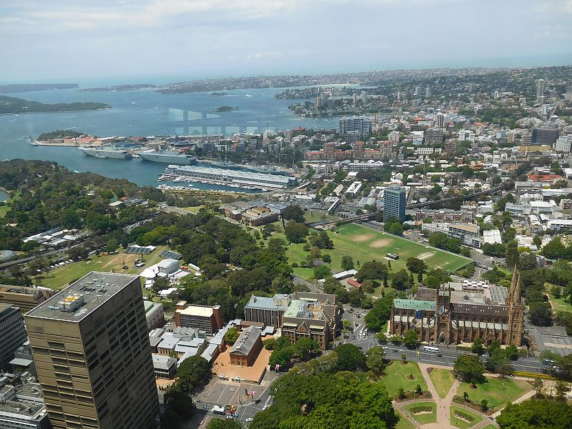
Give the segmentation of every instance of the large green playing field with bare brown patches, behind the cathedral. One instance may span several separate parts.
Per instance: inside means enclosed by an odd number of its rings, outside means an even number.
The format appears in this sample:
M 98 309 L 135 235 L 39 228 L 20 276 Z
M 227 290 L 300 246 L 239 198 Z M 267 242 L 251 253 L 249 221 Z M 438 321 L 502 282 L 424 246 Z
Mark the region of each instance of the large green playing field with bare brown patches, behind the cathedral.
M 329 237 L 334 242 L 334 249 L 322 250 L 322 254 L 331 256 L 331 267 L 336 271 L 342 271 L 342 258 L 349 255 L 354 258 L 354 264 L 358 269 L 360 264 L 375 259 L 376 261 L 387 261 L 387 253 L 399 255 L 397 261 L 391 261 L 391 271 L 396 272 L 405 268 L 405 263 L 410 257 L 423 259 L 429 268 L 442 268 L 443 270 L 456 271 L 468 263 L 471 259 L 460 255 L 453 255 L 430 246 L 402 239 L 394 235 L 385 234 L 356 223 L 348 223 L 340 226 L 336 232 L 328 231 Z M 307 252 L 303 249 L 304 244 L 290 244 L 288 246 L 289 262 L 301 263 L 305 261 Z M 297 272 L 303 277 L 309 277 L 311 270 L 307 272 Z M 310 274 L 311 276 L 311 274 Z

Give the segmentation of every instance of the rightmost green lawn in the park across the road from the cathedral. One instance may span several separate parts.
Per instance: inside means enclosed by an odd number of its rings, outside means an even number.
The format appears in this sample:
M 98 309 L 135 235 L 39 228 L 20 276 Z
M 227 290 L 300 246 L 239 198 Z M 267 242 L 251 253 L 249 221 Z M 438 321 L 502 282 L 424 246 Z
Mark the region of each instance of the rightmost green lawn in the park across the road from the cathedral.
M 489 408 L 498 409 L 508 401 L 514 401 L 531 390 L 531 385 L 527 381 L 496 377 L 486 378 L 488 383 L 478 384 L 476 389 L 471 388 L 469 383 L 461 383 L 457 395 L 462 397 L 463 392 L 467 392 L 473 403 L 480 403 L 482 399 L 487 399 Z

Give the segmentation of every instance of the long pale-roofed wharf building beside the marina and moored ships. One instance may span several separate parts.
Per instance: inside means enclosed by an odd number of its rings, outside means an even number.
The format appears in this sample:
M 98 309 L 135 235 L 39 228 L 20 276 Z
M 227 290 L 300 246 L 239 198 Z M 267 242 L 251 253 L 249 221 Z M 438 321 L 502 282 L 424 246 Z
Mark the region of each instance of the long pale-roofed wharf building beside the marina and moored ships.
M 207 179 L 217 183 L 234 183 L 241 186 L 255 186 L 262 188 L 289 188 L 296 184 L 296 178 L 281 176 L 280 174 L 265 174 L 241 170 L 225 170 L 223 168 L 198 166 L 168 166 L 167 174 L 193 177 L 194 179 Z

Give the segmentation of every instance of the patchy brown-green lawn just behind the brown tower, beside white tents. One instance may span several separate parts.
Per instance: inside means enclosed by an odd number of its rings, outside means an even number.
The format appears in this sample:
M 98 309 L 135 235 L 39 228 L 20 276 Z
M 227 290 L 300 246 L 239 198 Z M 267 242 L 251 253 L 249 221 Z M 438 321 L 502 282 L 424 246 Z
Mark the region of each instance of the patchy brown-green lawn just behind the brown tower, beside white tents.
M 139 274 L 148 266 L 161 261 L 159 254 L 165 250 L 166 246 L 157 246 L 157 248 L 150 254 L 145 255 L 146 264 L 144 267 L 136 268 L 133 266 L 135 259 L 141 258 L 141 255 L 130 255 L 123 253 L 123 249 L 117 255 L 101 255 L 85 259 L 84 261 L 70 263 L 63 267 L 55 268 L 48 272 L 50 277 L 40 277 L 36 284 L 47 286 L 48 288 L 61 289 L 68 286 L 71 281 L 79 279 L 90 271 L 103 271 L 103 272 L 121 272 L 123 274 Z M 123 263 L 129 267 L 128 270 L 123 270 Z

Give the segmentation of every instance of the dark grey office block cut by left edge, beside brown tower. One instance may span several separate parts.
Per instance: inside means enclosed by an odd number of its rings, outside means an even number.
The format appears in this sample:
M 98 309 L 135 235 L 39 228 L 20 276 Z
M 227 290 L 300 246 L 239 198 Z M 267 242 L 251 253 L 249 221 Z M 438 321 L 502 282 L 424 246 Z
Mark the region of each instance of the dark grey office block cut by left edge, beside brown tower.
M 0 303 L 0 369 L 14 359 L 14 352 L 25 341 L 24 321 L 19 308 Z

